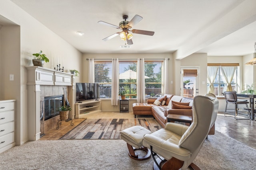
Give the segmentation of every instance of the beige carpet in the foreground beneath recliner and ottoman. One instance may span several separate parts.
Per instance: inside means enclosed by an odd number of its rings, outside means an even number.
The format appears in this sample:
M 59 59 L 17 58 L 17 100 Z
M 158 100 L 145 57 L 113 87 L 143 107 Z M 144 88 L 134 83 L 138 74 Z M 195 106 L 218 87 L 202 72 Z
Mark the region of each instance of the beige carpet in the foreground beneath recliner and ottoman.
M 120 140 L 32 141 L 0 154 L 5 170 L 152 170 L 153 159 L 128 156 Z M 256 150 L 216 131 L 196 157 L 201 170 L 255 169 Z

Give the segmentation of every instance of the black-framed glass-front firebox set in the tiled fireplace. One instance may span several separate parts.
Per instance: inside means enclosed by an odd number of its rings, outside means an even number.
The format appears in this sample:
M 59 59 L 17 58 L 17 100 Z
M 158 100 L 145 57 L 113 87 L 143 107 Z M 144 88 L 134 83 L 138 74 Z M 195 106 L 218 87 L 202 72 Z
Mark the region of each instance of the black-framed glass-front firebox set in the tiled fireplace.
M 58 108 L 64 104 L 64 95 L 44 97 L 44 120 L 60 115 Z

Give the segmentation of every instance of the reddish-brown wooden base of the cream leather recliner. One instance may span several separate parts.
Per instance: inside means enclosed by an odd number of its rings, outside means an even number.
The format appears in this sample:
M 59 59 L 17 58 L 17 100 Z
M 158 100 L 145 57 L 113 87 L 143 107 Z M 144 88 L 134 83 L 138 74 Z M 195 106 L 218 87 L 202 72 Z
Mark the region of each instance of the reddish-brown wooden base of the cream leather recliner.
M 170 160 L 166 160 L 160 157 L 160 158 L 157 158 L 156 161 L 161 166 L 161 170 L 179 170 L 184 163 L 184 161 L 178 160 L 177 158 L 174 158 L 174 157 L 172 157 Z M 188 166 L 188 168 L 190 168 L 191 170 L 200 170 L 200 168 L 196 166 L 196 164 L 194 163 L 191 163 Z M 160 170 L 156 162 L 154 162 L 153 164 L 153 169 Z

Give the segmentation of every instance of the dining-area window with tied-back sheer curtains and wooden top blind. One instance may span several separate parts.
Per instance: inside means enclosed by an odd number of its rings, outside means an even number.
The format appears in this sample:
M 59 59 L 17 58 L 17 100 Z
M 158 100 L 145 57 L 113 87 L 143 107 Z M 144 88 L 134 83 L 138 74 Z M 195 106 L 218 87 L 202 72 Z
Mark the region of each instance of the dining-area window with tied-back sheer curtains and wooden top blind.
M 232 74 L 234 73 L 234 76 L 230 82 L 231 87 L 232 87 L 232 91 L 236 91 L 237 90 L 237 73 L 238 73 L 238 69 L 239 69 L 239 64 L 218 64 L 218 63 L 214 63 L 214 64 L 208 64 L 208 67 L 216 67 L 216 77 L 214 79 L 213 82 L 213 86 L 214 86 L 214 94 L 216 96 L 223 96 L 223 92 L 227 91 L 228 88 L 228 83 L 226 81 L 226 79 L 228 81 L 230 81 L 229 79 L 232 78 Z M 213 73 L 209 73 L 209 68 L 208 68 L 208 75 L 209 74 L 213 74 Z M 226 78 L 225 78 L 226 77 Z M 209 88 L 210 88 L 210 81 L 209 78 L 207 79 L 207 91 L 209 92 Z

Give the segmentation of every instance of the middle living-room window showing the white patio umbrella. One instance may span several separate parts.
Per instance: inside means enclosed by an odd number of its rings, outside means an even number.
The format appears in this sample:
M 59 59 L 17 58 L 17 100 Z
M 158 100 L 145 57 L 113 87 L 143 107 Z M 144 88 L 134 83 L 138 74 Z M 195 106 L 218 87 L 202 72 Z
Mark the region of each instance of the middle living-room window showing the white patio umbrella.
M 119 90 L 137 98 L 137 61 L 119 61 Z

